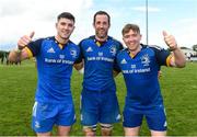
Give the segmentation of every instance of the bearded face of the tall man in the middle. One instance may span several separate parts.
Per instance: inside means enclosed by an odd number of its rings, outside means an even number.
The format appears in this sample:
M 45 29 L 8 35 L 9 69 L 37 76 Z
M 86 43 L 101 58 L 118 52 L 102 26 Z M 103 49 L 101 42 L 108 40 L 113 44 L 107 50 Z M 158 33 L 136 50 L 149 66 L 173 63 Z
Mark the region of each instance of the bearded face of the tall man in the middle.
M 104 14 L 96 15 L 95 22 L 93 25 L 94 25 L 95 35 L 97 38 L 106 38 L 107 37 L 107 33 L 108 33 L 108 28 L 109 28 L 107 15 L 104 15 Z

